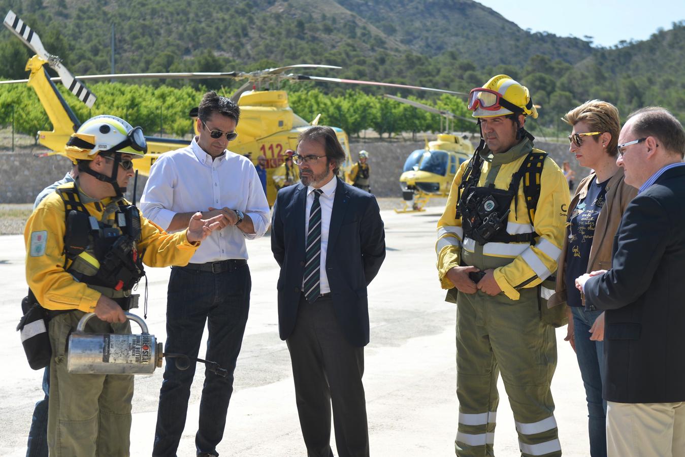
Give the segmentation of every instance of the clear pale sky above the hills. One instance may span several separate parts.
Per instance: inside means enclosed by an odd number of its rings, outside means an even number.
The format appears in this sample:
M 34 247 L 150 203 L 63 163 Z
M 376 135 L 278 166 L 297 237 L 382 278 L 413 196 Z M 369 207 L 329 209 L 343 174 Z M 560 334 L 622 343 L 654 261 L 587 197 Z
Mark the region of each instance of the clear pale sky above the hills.
M 647 40 L 685 19 L 685 0 L 476 0 L 522 29 L 558 36 L 592 36 L 594 46 Z

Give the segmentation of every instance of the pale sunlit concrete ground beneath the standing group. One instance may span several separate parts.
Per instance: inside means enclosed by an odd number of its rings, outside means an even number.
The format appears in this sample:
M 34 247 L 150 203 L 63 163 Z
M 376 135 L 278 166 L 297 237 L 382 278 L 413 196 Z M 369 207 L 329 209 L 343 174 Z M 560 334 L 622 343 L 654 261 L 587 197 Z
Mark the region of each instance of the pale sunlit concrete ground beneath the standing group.
M 455 308 L 444 301 L 445 293 L 436 280 L 434 243 L 440 212 L 441 208 L 412 214 L 382 212 L 388 254 L 369 288 L 371 343 L 365 351 L 364 373 L 371 454 L 375 456 L 454 455 L 458 414 Z M 278 337 L 278 267 L 268 237 L 248 242 L 248 250 L 253 280 L 250 317 L 218 450 L 221 456 L 306 456 L 288 350 Z M 42 397 L 42 370 L 29 368 L 15 331 L 27 289 L 23 265 L 22 236 L 0 236 L 0 456 L 25 455 L 34 403 Z M 165 341 L 169 269 L 147 272 L 147 324 L 152 334 Z M 564 456 L 588 456 L 585 393 L 575 354 L 563 341 L 565 334 L 566 328 L 557 330 L 559 363 L 552 384 L 555 415 Z M 202 381 L 203 369 L 198 369 L 179 456 L 195 456 Z M 151 454 L 161 382 L 162 369 L 136 377 L 132 456 Z M 499 391 L 495 452 L 516 456 L 516 431 L 501 380 Z

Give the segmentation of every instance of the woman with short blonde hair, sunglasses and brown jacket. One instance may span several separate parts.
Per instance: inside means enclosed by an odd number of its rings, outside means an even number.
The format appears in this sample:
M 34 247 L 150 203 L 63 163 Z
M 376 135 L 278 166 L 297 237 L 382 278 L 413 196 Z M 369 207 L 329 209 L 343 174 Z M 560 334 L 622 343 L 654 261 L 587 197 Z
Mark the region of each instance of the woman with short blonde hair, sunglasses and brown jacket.
M 588 402 L 590 455 L 606 456 L 606 402 L 602 399 L 604 314 L 586 312 L 575 278 L 611 268 L 612 242 L 625 207 L 637 189 L 625 184 L 616 164 L 621 131 L 619 111 L 611 103 L 586 101 L 566 113 L 573 127 L 569 151 L 578 164 L 593 172 L 578 184 L 566 224 L 553 304 L 566 301 L 569 326 L 566 341 L 577 356 Z

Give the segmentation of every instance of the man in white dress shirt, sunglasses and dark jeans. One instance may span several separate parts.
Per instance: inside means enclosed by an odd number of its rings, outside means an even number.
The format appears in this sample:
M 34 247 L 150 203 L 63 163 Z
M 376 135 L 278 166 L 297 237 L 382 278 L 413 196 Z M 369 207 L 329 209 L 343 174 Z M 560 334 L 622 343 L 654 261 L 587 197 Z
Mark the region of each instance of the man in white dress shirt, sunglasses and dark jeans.
M 247 323 L 251 289 L 245 239 L 263 236 L 269 203 L 249 159 L 228 151 L 237 136 L 240 108 L 234 101 L 206 93 L 199 106 L 199 135 L 190 146 L 164 153 L 152 166 L 140 209 L 169 232 L 188 225 L 197 211 L 203 217 L 223 214 L 227 227 L 216 230 L 186 267 L 174 267 L 166 305 L 164 351 L 198 356 L 207 322 L 207 360 L 228 371 L 209 370 L 195 435 L 198 456 L 216 456 L 223 437 L 233 373 Z M 174 456 L 186 424 L 195 363 L 186 370 L 167 363 L 160 391 L 153 456 Z

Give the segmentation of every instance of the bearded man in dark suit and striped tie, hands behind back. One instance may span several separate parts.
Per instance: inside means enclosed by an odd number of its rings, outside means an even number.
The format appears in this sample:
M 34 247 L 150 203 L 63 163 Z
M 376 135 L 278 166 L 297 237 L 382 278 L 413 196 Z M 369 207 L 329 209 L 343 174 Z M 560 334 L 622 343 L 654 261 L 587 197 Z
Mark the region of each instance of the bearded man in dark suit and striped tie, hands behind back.
M 373 195 L 337 177 L 345 152 L 333 129 L 310 127 L 298 143 L 301 182 L 279 190 L 271 225 L 281 267 L 279 333 L 290 351 L 308 456 L 333 456 L 332 404 L 338 454 L 366 457 L 366 286 L 385 258 L 383 221 Z

